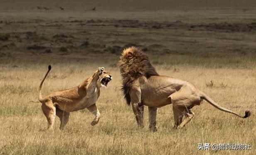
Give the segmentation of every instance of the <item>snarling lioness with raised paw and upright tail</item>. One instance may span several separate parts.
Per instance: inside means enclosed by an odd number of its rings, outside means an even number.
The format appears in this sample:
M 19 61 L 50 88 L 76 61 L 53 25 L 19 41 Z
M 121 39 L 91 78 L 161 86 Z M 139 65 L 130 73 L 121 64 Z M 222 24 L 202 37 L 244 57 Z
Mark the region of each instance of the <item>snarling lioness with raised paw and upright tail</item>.
M 107 83 L 112 80 L 112 75 L 106 72 L 104 67 L 99 67 L 92 77 L 89 77 L 80 85 L 51 93 L 42 98 L 41 88 L 50 70 L 51 66 L 48 67 L 48 72 L 41 81 L 38 91 L 38 98 L 42 103 L 41 107 L 48 121 L 48 129 L 53 129 L 55 115 L 60 118 L 60 129 L 63 129 L 68 123 L 70 112 L 84 108 L 95 115 L 91 125 L 97 124 L 100 119 L 100 112 L 95 103 L 100 96 L 100 88 L 106 88 Z

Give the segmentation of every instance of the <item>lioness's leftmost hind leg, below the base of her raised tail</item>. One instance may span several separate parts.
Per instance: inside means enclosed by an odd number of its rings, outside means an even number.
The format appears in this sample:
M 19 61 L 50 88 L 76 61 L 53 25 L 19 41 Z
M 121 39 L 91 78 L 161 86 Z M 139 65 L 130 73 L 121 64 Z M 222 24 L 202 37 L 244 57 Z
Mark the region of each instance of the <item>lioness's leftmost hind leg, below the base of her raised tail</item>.
M 54 126 L 54 120 L 56 116 L 56 107 L 52 103 L 51 100 L 47 101 L 46 103 L 43 103 L 41 106 L 45 117 L 48 121 L 48 129 L 53 129 Z

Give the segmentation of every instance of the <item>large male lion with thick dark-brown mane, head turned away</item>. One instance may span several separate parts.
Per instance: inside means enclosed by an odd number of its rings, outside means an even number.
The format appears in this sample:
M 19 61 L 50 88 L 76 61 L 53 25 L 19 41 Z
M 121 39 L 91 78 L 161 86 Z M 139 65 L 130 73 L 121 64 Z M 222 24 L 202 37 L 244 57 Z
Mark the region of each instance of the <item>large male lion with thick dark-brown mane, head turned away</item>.
M 206 100 L 219 110 L 240 116 L 236 112 L 219 106 L 205 93 L 198 90 L 192 83 L 169 76 L 159 76 L 151 65 L 149 57 L 135 47 L 124 49 L 119 60 L 122 75 L 122 91 L 127 104 L 132 103 L 132 110 L 138 126 L 143 127 L 144 105 L 149 107 L 149 129 L 156 129 L 156 113 L 158 107 L 173 104 L 173 115 L 175 120 L 174 129 L 182 128 L 193 117 L 191 111 L 195 105 L 200 105 Z M 182 120 L 183 115 L 185 119 Z

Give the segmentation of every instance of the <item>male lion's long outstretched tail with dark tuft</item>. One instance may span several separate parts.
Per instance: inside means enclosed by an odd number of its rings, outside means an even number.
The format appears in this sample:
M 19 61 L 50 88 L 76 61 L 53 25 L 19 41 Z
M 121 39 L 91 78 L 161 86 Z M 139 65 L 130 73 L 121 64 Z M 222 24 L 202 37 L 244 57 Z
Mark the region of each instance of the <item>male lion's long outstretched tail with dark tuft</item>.
M 215 103 L 209 96 L 207 96 L 205 93 L 202 92 L 202 98 L 204 100 L 206 100 L 208 103 L 210 103 L 212 106 L 216 107 L 217 109 L 221 110 L 221 111 L 224 111 L 224 112 L 228 112 L 228 113 L 231 113 L 231 114 L 234 114 L 238 117 L 241 117 L 241 118 L 247 118 L 251 115 L 251 112 L 249 110 L 246 110 L 245 111 L 245 115 L 244 116 L 241 116 L 239 114 L 237 114 L 236 112 L 233 112 L 231 110 L 228 110 L 224 107 L 221 107 L 220 105 L 218 105 L 217 103 Z

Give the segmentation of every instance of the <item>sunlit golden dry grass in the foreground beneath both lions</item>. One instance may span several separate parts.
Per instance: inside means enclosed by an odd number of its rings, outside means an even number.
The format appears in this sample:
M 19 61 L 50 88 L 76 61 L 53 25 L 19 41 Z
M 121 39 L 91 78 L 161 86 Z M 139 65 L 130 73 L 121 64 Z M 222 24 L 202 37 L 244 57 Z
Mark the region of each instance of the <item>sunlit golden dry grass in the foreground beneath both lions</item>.
M 153 58 L 154 61 L 154 58 Z M 159 61 L 159 60 L 158 60 Z M 105 63 L 105 62 L 102 62 Z M 17 64 L 18 67 L 13 67 Z M 43 95 L 78 85 L 99 65 L 83 61 L 53 63 L 43 86 Z M 100 65 L 101 66 L 101 65 Z M 256 143 L 255 116 L 241 119 L 220 112 L 208 103 L 193 108 L 196 116 L 184 129 L 173 131 L 172 105 L 158 109 L 158 132 L 147 127 L 138 129 L 131 107 L 120 89 L 119 69 L 105 64 L 113 81 L 101 91 L 98 108 L 102 114 L 99 124 L 90 126 L 93 115 L 87 110 L 71 113 L 65 130 L 59 130 L 59 118 L 54 131 L 47 131 L 47 121 L 37 100 L 37 89 L 47 66 L 43 63 L 25 64 L 14 61 L 3 67 L 0 76 L 0 153 L 1 154 L 208 154 L 198 151 L 197 143 L 250 143 L 251 151 L 219 151 L 219 154 L 254 154 Z M 255 72 L 252 69 L 156 65 L 162 75 L 192 81 L 217 103 L 244 113 L 255 114 Z M 207 87 L 206 81 L 214 79 Z M 223 84 L 225 87 L 223 87 Z M 227 85 L 227 86 L 226 86 Z M 147 108 L 146 108 L 147 109 Z M 145 113 L 145 126 L 148 126 Z

